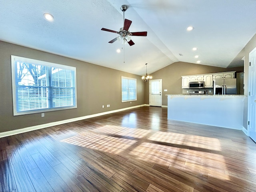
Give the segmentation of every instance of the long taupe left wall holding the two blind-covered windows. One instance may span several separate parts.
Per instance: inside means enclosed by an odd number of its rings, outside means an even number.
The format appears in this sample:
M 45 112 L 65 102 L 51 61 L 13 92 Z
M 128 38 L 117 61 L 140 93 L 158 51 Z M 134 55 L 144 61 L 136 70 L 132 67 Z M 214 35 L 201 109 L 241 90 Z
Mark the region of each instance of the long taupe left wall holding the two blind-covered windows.
M 76 67 L 78 107 L 45 112 L 44 118 L 41 113 L 13 116 L 11 55 Z M 137 78 L 137 101 L 132 104 L 121 102 L 121 76 Z M 0 41 L 0 132 L 141 105 L 144 86 L 138 75 Z

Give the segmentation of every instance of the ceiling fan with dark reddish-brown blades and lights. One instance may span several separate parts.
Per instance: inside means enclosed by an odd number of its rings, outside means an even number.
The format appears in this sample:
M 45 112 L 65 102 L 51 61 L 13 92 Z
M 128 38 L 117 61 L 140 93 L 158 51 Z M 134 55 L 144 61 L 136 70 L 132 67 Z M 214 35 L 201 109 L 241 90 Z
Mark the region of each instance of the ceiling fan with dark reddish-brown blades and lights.
M 121 10 L 123 12 L 123 18 L 124 18 L 124 12 L 127 10 L 127 8 L 128 8 L 127 5 L 121 6 Z M 130 32 L 129 28 L 130 28 L 131 24 L 132 24 L 131 20 L 124 19 L 124 27 L 120 28 L 119 32 L 110 30 L 110 29 L 106 29 L 106 28 L 102 28 L 101 30 L 119 34 L 118 37 L 112 39 L 109 43 L 114 43 L 116 40 L 122 40 L 123 43 L 128 42 L 128 44 L 130 46 L 132 46 L 132 45 L 134 45 L 134 42 L 131 40 L 131 36 L 147 36 L 148 32 L 146 32 L 146 31 Z

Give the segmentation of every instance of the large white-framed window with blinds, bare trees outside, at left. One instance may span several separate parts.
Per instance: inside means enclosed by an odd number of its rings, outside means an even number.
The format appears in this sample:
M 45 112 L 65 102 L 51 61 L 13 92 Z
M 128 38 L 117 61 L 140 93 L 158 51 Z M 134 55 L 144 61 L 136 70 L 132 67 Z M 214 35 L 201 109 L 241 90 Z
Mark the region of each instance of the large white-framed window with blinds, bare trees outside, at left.
M 12 55 L 15 115 L 76 108 L 76 68 Z

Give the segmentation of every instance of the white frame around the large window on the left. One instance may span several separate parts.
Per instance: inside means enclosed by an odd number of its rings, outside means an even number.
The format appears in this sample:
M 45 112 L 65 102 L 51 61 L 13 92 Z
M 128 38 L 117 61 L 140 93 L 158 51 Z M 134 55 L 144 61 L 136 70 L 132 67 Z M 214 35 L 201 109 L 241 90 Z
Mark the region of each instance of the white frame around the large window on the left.
M 16 61 L 27 62 L 27 63 L 30 63 L 30 64 L 36 64 L 36 65 L 42 65 L 42 66 L 48 66 L 48 67 L 55 67 L 55 68 L 61 68 L 61 69 L 74 71 L 74 79 L 73 79 L 74 80 L 74 87 L 73 87 L 74 88 L 74 105 L 72 105 L 72 106 L 60 106 L 60 107 L 52 107 L 51 106 L 50 108 L 44 108 L 44 109 L 31 109 L 31 110 L 25 110 L 25 111 L 18 111 L 17 110 L 17 95 L 16 95 L 17 94 L 17 87 L 16 87 L 16 80 L 17 80 L 17 78 L 16 78 L 16 76 L 17 76 L 16 68 L 17 68 L 17 66 L 16 66 Z M 35 59 L 31 59 L 31 58 L 24 58 L 24 57 L 14 56 L 14 55 L 11 55 L 11 67 L 12 67 L 12 102 L 13 102 L 13 115 L 14 116 L 77 108 L 76 67 L 66 66 L 66 65 L 62 65 L 62 64 L 56 64 L 56 63 L 46 62 L 46 61 L 41 61 L 41 60 L 35 60 Z M 54 86 L 49 85 L 48 87 L 53 88 Z M 53 97 L 51 97 L 51 100 L 52 100 L 52 98 Z

